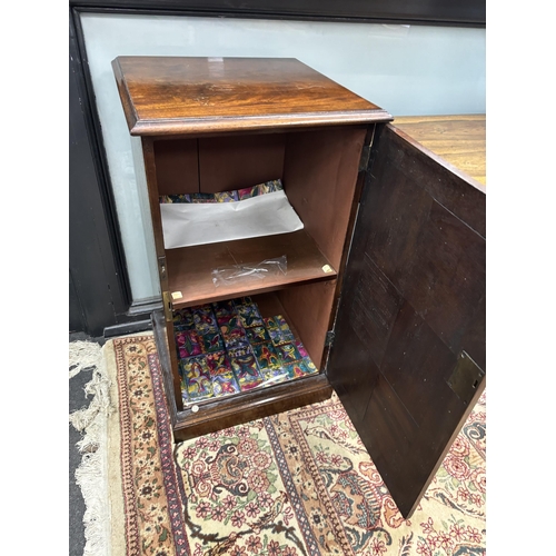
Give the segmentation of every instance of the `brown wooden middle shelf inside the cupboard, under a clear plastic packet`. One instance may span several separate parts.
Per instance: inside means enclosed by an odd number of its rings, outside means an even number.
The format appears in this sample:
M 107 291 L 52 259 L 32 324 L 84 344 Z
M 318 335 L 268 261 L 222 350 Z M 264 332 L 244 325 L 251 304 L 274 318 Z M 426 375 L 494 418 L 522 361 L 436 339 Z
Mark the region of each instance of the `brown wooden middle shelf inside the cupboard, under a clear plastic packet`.
M 257 264 L 286 255 L 287 274 L 262 280 L 246 279 L 216 287 L 212 270 L 241 264 Z M 190 307 L 232 297 L 275 291 L 296 284 L 334 280 L 337 271 L 306 230 L 260 238 L 168 249 L 166 251 L 170 294 L 181 292 L 173 306 Z M 326 271 L 326 266 L 331 269 Z

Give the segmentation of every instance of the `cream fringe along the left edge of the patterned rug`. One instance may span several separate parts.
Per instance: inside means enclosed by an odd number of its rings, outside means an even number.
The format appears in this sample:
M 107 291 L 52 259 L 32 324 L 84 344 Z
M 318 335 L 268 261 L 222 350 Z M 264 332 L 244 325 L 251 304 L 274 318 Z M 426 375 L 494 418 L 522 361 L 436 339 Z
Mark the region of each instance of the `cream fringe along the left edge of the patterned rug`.
M 69 364 L 70 378 L 93 367 L 92 378 L 85 386 L 85 393 L 92 399 L 88 407 L 69 416 L 71 425 L 82 433 L 76 445 L 82 454 L 81 464 L 76 470 L 76 484 L 81 488 L 86 506 L 83 556 L 109 556 L 107 419 L 111 407 L 110 380 L 102 347 L 90 341 L 72 341 L 69 345 Z

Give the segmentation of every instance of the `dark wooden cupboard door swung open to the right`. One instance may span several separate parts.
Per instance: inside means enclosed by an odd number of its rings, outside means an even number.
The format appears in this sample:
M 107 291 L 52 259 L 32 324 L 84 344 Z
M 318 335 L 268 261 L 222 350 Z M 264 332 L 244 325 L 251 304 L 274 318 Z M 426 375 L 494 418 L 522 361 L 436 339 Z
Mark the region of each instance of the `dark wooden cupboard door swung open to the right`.
M 404 517 L 485 386 L 485 207 L 478 182 L 383 127 L 327 376 Z

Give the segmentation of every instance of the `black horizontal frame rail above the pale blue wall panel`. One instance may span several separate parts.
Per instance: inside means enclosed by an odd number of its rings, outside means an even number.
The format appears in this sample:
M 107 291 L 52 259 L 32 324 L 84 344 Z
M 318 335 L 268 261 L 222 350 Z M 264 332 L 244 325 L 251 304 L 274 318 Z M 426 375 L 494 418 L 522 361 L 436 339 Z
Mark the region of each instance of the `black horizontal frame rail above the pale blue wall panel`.
M 87 9 L 242 18 L 486 26 L 486 0 L 70 0 Z

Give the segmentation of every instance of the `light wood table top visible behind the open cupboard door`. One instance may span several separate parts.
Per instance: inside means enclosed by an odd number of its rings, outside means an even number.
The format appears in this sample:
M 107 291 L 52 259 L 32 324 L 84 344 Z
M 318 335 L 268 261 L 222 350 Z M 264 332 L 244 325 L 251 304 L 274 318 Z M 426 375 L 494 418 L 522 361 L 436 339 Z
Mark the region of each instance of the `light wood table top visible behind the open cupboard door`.
M 486 186 L 486 116 L 404 116 L 393 125 Z

